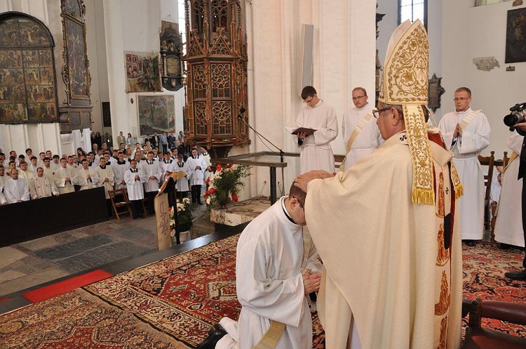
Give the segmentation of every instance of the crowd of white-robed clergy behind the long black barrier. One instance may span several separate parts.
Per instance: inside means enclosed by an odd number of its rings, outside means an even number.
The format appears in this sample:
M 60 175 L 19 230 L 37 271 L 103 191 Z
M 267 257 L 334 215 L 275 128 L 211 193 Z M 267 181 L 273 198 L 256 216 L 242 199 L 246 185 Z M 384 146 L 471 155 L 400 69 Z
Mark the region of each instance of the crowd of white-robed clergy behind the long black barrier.
M 177 142 L 178 143 L 178 142 Z M 173 172 L 184 171 L 186 176 L 177 180 L 177 197 L 187 197 L 191 187 L 192 202 L 201 203 L 201 185 L 205 185 L 210 167 L 206 147 L 192 148 L 191 156 L 177 145 L 167 152 L 144 145 L 110 150 L 106 143 L 101 149 L 93 144 L 92 151 L 78 148 L 76 154 L 52 154 L 50 150 L 36 157 L 28 148 L 25 155 L 14 150 L 6 154 L 0 150 L 0 205 L 15 204 L 58 196 L 76 190 L 104 187 L 109 216 L 112 204 L 109 191 L 126 188 L 132 204 L 133 218 L 142 216 L 142 200 L 147 197 L 147 211 L 154 214 L 154 197 L 161 184 Z

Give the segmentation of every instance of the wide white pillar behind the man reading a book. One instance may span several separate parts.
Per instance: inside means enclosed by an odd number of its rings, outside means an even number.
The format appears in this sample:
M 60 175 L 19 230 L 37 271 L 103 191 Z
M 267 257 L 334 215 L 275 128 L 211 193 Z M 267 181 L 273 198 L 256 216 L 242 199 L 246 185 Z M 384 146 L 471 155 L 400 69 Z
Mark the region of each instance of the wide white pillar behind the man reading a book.
M 354 86 L 374 91 L 375 2 L 321 0 L 245 1 L 248 35 L 248 120 L 285 152 L 298 152 L 296 140 L 283 126 L 294 126 L 304 107 L 299 92 L 299 48 L 302 24 L 314 26 L 313 86 L 325 103 L 335 108 L 339 125 L 351 105 Z M 250 152 L 268 151 L 250 132 Z M 336 154 L 344 153 L 339 135 L 332 142 Z M 274 150 L 272 148 L 271 150 Z M 247 152 L 234 148 L 231 154 Z M 297 159 L 285 159 L 285 193 L 297 176 Z M 281 177 L 278 174 L 278 177 Z M 259 195 L 267 168 L 256 169 L 251 195 Z M 268 195 L 269 185 L 263 190 Z

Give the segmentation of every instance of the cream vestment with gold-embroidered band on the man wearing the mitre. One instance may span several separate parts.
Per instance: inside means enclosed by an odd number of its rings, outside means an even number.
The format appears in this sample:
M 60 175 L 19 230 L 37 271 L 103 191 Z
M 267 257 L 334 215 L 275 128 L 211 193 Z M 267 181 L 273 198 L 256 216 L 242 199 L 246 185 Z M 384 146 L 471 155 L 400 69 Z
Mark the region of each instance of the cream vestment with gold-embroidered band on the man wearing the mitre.
M 459 220 L 448 249 L 443 229 L 454 199 L 450 154 L 431 145 L 442 205 L 413 204 L 404 136 L 396 133 L 351 169 L 308 185 L 307 224 L 327 270 L 317 303 L 327 348 L 347 348 L 348 340 L 351 348 L 459 345 Z

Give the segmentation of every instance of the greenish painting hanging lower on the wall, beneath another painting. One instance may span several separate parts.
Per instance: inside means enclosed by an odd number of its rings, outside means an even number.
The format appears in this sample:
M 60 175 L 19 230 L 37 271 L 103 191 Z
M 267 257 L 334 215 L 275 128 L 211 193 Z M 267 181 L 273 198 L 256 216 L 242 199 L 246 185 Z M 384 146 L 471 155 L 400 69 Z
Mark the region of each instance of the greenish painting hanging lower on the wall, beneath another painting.
M 140 136 L 175 130 L 173 95 L 137 96 L 137 110 Z

